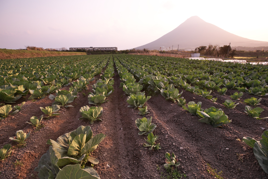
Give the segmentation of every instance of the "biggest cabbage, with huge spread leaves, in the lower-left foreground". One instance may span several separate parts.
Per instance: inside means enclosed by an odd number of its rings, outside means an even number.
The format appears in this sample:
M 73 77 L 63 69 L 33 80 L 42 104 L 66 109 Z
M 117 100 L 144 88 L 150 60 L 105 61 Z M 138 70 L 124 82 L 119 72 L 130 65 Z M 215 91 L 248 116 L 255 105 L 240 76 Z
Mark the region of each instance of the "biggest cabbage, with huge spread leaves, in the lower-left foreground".
M 89 153 L 95 150 L 105 137 L 104 134 L 93 136 L 90 126 L 80 126 L 58 137 L 57 141 L 49 139 L 47 144 L 52 146 L 42 155 L 34 170 L 39 172 L 40 179 L 100 179 L 93 168 L 81 169 L 81 164 L 88 161 L 98 163 L 97 159 L 89 157 Z

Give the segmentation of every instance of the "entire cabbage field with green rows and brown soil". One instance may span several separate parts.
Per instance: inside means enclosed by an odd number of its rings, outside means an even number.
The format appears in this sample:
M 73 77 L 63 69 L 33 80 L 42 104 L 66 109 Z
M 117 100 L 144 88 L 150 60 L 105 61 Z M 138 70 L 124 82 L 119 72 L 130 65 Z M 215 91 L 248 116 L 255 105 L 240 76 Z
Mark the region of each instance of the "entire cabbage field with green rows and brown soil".
M 268 178 L 265 65 L 2 60 L 0 178 Z

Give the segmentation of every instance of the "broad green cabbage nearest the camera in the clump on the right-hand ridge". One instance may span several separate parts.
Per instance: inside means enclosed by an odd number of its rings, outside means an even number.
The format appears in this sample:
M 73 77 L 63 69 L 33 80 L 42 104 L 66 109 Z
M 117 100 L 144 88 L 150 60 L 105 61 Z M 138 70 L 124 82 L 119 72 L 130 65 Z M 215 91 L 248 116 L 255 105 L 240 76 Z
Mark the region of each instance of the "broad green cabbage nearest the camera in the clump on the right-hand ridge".
M 199 122 L 211 124 L 213 127 L 221 127 L 223 124 L 232 122 L 222 109 L 217 109 L 214 106 L 205 109 L 204 112 L 198 111 L 197 114 L 202 117 L 198 120 Z

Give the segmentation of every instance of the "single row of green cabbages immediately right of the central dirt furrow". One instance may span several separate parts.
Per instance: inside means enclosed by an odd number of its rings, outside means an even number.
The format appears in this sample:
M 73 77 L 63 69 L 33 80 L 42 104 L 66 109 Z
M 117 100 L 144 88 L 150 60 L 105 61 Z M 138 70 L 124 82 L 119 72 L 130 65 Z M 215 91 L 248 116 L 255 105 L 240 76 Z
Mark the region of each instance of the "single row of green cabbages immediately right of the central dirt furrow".
M 140 92 L 143 89 L 143 85 L 136 83 L 136 79 L 134 76 L 128 72 L 128 70 L 122 66 L 120 61 L 118 59 L 115 59 L 116 63 L 116 68 L 118 70 L 118 74 L 121 78 L 122 83 L 120 83 L 120 87 L 123 88 L 123 91 L 125 92 L 126 95 L 128 96 L 127 102 L 130 104 L 128 107 L 130 108 L 138 108 L 139 112 L 138 114 L 142 115 L 142 119 L 137 119 L 135 121 L 137 128 L 140 130 L 139 135 L 147 135 L 147 139 L 144 138 L 144 140 L 147 143 L 144 143 L 144 147 L 150 147 L 149 150 L 158 150 L 161 149 L 160 143 L 157 144 L 156 140 L 159 138 L 158 135 L 154 135 L 152 132 L 155 130 L 157 127 L 154 123 L 152 123 L 152 117 L 150 119 L 147 119 L 145 114 L 148 114 L 150 112 L 147 111 L 147 106 L 144 106 L 145 102 L 148 101 L 151 96 L 145 96 L 145 92 Z M 150 82 L 150 89 L 154 90 L 157 88 L 155 85 L 154 81 L 151 80 Z M 175 90 L 174 90 L 175 91 Z M 161 91 L 161 93 L 165 95 L 170 95 L 166 91 Z M 177 93 L 177 91 L 175 91 Z M 181 94 L 179 94 L 181 95 Z M 169 96 L 170 97 L 170 96 Z M 172 98 L 173 94 L 171 95 L 170 99 L 177 99 L 177 98 Z M 172 170 L 177 171 L 177 166 L 180 165 L 178 162 L 178 159 L 176 159 L 176 156 L 174 153 L 170 155 L 170 153 L 166 152 L 165 154 L 166 160 L 164 167 L 165 168 L 172 168 Z M 175 167 L 175 168 L 174 168 Z

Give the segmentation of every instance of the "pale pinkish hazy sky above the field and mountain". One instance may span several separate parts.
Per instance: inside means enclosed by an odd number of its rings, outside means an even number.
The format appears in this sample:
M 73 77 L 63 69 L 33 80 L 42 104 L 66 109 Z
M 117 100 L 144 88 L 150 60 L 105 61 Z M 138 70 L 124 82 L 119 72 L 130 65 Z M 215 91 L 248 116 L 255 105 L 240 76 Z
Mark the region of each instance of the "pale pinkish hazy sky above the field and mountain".
M 230 33 L 268 41 L 268 1 L 0 0 L 0 48 L 135 48 L 199 16 Z

